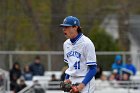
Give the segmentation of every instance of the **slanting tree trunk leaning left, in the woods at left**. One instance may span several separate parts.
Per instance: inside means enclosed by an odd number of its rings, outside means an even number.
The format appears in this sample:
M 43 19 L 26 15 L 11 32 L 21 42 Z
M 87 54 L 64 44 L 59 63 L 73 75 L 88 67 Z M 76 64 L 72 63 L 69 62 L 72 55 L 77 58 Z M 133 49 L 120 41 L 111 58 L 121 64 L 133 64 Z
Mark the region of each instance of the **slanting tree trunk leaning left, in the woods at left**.
M 23 7 L 25 14 L 27 14 L 27 16 L 31 19 L 34 30 L 37 33 L 36 41 L 37 43 L 39 43 L 39 50 L 45 50 L 45 42 L 42 36 L 43 32 L 40 30 L 39 18 L 37 17 L 37 14 L 35 14 L 35 12 L 33 11 L 32 2 L 30 0 L 20 0 L 20 3 Z

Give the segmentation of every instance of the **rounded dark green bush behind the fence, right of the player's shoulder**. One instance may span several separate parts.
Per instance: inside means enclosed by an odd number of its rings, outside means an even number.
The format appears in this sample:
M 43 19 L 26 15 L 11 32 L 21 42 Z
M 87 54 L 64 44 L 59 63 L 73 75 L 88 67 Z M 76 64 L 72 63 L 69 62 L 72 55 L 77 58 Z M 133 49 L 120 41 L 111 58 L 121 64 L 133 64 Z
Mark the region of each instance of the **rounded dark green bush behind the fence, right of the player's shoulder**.
M 89 33 L 89 36 L 95 45 L 96 51 L 120 50 L 117 41 L 99 26 L 94 26 L 94 29 Z M 111 70 L 112 62 L 114 62 L 114 55 L 97 55 L 97 63 L 104 70 Z

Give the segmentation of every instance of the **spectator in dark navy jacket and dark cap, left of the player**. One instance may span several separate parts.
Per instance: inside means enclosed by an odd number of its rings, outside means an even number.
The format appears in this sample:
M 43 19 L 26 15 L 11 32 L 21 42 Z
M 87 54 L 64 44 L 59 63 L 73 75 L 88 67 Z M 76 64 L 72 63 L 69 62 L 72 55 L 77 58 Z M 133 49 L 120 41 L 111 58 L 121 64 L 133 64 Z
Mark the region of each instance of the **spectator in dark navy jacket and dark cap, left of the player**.
M 35 57 L 34 63 L 30 66 L 30 71 L 33 73 L 33 76 L 43 76 L 44 75 L 44 66 L 41 64 L 39 56 Z

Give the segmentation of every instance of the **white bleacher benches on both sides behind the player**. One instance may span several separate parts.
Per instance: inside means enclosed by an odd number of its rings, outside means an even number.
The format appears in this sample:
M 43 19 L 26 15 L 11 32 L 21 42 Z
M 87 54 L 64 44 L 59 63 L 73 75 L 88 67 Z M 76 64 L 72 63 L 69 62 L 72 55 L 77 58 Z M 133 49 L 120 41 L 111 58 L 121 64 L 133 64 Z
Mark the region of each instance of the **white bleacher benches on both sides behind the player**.
M 62 73 L 61 71 L 46 71 L 45 76 L 35 76 L 33 77 L 33 81 L 38 80 L 39 83 L 44 88 L 44 90 L 46 91 L 46 93 L 64 93 L 61 90 L 48 90 L 48 87 L 49 87 L 48 81 L 51 79 L 52 74 L 55 74 L 56 77 L 59 79 Z M 103 74 L 106 76 L 109 76 L 111 72 L 104 71 Z M 138 86 L 138 89 L 129 88 L 130 86 L 127 86 L 128 88 L 122 88 L 122 86 L 112 87 L 111 85 L 108 85 L 108 84 L 106 85 L 105 83 L 101 83 L 102 85 L 99 85 L 99 83 L 96 82 L 95 93 L 140 93 L 140 72 L 137 72 L 136 76 L 132 76 L 131 80 L 137 82 L 137 84 L 134 84 L 134 85 Z M 32 86 L 33 81 L 26 81 L 26 83 L 27 85 Z M 60 82 L 57 82 L 57 83 L 60 83 Z M 131 85 L 131 87 L 134 87 L 134 86 Z M 22 92 L 22 93 L 26 93 L 26 92 Z

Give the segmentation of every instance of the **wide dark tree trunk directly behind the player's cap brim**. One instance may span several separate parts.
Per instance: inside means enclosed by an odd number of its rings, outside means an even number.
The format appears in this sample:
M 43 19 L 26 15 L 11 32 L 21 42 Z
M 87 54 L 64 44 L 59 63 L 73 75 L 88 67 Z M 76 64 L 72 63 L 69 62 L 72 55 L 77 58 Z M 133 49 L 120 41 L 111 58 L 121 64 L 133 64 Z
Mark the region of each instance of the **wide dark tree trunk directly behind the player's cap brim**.
M 51 0 L 51 25 L 50 25 L 50 50 L 62 50 L 64 41 L 63 32 L 60 31 L 59 24 L 66 17 L 67 0 Z

